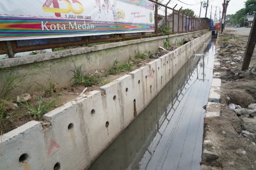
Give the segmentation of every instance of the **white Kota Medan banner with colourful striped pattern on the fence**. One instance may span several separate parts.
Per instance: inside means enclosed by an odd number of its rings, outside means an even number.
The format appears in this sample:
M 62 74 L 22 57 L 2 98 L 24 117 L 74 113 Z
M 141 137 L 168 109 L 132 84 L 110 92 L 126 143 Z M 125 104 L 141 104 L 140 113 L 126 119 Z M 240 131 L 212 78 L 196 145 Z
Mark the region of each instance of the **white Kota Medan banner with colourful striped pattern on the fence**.
M 0 41 L 153 32 L 147 0 L 1 0 Z

